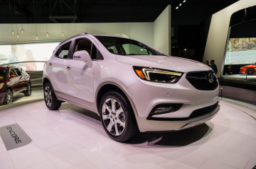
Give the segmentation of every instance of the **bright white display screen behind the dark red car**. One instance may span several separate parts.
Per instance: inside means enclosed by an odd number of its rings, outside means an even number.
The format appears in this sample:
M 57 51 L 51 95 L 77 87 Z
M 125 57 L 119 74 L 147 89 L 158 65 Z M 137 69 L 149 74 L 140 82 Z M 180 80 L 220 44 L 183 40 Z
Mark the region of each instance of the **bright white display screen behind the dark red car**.
M 47 61 L 60 42 L 28 43 L 21 45 L 0 45 L 0 64 L 14 64 L 26 71 L 42 71 L 44 63 L 29 61 Z

